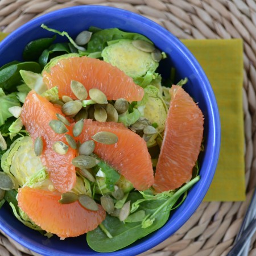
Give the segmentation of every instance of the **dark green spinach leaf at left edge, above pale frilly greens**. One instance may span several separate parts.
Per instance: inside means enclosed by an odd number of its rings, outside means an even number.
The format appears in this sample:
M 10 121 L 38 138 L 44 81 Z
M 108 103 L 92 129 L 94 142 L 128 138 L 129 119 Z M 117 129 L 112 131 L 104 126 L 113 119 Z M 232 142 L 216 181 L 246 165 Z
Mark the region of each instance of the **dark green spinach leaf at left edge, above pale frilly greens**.
M 7 92 L 14 92 L 16 90 L 16 86 L 22 83 L 22 77 L 19 73 L 22 69 L 36 73 L 40 73 L 42 71 L 40 65 L 33 61 L 10 65 L 0 71 L 0 88 L 3 88 Z

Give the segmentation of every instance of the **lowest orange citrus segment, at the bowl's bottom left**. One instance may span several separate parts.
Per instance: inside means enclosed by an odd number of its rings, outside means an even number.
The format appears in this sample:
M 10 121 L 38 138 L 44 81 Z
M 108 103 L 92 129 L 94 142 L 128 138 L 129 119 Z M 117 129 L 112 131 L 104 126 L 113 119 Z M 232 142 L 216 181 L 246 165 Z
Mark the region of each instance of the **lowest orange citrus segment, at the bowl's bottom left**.
M 60 204 L 60 193 L 23 187 L 18 191 L 18 205 L 28 217 L 46 232 L 60 238 L 76 237 L 96 229 L 105 219 L 105 210 L 85 209 L 78 201 Z

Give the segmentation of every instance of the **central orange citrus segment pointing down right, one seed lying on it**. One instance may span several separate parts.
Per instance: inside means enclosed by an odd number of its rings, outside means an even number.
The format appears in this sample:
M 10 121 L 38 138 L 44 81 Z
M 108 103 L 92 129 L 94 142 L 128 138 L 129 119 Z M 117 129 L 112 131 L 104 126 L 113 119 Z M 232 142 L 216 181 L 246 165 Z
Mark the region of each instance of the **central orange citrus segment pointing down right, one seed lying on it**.
M 135 189 L 145 190 L 154 183 L 154 172 L 146 142 L 121 123 L 84 120 L 84 129 L 78 137 L 85 142 L 100 131 L 109 131 L 118 137 L 115 144 L 95 142 L 94 153 L 129 180 Z

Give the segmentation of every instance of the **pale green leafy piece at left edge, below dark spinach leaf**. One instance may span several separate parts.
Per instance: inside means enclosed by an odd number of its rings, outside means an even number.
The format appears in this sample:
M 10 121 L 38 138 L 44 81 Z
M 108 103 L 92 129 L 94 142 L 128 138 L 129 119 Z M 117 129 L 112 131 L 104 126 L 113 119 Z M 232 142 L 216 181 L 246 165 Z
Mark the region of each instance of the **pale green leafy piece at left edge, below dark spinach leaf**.
M 0 88 L 0 126 L 5 124 L 7 118 L 12 117 L 13 115 L 9 112 L 9 108 L 12 106 L 20 106 L 19 100 L 16 97 L 16 93 L 5 94 L 3 89 Z

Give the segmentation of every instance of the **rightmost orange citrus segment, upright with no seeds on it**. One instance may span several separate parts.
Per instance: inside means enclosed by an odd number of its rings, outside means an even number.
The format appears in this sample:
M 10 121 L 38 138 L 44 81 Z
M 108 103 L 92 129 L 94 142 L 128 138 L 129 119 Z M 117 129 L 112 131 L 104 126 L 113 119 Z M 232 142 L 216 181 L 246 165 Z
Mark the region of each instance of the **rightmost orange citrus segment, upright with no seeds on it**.
M 180 86 L 172 85 L 170 93 L 153 185 L 157 192 L 179 188 L 191 179 L 203 139 L 204 117 L 199 107 Z

